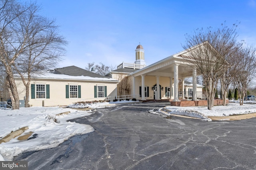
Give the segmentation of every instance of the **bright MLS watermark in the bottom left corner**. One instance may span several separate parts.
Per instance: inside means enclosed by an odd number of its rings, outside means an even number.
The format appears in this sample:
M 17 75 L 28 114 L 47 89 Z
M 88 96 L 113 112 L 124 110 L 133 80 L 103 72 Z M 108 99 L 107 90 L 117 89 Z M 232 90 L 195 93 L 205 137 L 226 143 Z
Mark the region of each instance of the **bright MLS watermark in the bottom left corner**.
M 0 170 L 28 170 L 28 161 L 0 161 Z

